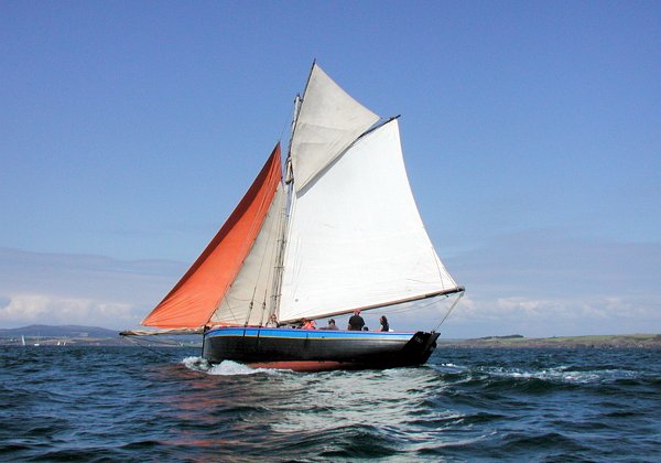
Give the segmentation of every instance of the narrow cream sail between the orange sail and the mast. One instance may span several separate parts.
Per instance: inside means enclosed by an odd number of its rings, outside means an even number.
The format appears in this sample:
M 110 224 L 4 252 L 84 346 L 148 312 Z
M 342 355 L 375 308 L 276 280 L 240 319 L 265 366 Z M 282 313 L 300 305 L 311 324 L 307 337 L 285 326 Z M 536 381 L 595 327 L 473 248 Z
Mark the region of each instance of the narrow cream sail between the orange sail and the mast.
M 270 308 L 273 295 L 273 272 L 284 223 L 283 201 L 284 194 L 280 185 L 259 235 L 231 288 L 214 312 L 212 322 L 231 325 L 260 325 L 267 322 L 268 314 L 263 309 L 264 305 Z

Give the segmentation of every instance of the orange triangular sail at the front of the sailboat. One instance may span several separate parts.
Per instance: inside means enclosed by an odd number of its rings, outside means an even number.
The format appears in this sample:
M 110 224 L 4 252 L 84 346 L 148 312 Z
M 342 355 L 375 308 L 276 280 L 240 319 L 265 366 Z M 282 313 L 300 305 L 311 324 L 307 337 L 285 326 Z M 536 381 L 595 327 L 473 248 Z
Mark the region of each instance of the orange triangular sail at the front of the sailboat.
M 239 272 L 282 180 L 280 143 L 212 243 L 142 325 L 205 325 Z

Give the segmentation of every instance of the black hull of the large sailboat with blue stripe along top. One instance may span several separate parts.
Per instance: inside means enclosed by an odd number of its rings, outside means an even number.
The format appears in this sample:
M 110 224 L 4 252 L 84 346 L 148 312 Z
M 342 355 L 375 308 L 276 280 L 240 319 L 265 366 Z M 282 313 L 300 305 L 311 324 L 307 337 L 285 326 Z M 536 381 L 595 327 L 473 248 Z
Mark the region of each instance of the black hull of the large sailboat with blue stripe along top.
M 424 364 L 438 333 L 223 327 L 207 332 L 203 357 L 294 370 L 393 368 Z

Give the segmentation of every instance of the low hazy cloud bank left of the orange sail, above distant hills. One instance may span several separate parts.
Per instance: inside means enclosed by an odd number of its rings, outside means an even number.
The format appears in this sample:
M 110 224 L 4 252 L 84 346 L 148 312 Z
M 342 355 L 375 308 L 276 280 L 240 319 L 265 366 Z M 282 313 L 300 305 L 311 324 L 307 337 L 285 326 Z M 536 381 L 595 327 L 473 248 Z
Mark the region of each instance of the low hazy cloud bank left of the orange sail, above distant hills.
M 185 266 L 0 249 L 0 327 L 137 326 Z

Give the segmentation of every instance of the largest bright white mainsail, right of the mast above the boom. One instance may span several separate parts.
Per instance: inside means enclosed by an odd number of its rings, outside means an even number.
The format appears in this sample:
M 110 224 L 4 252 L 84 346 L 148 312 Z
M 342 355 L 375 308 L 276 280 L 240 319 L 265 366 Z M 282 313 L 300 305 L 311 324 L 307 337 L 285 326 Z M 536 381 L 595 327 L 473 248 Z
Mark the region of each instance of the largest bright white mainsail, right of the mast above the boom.
M 359 139 L 292 202 L 281 321 L 457 288 L 415 206 L 397 120 Z

